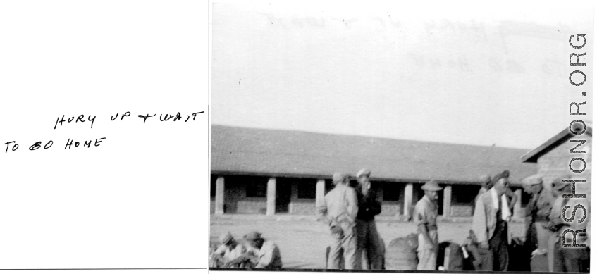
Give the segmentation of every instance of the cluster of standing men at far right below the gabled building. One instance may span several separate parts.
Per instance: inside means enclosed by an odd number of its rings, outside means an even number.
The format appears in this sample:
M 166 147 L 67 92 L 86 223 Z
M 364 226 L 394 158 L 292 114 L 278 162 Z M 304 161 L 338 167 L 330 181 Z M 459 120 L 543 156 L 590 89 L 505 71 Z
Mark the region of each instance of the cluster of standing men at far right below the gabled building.
M 539 267 L 543 266 L 537 270 L 584 272 L 589 267 L 591 197 L 589 193 L 585 193 L 586 198 L 571 198 L 570 194 L 579 194 L 578 189 L 570 182 L 563 181 L 566 179 L 570 178 L 555 178 L 550 185 L 546 185 L 540 175 L 532 175 L 523 180 L 524 191 L 531 194 L 531 201 L 526 208 L 525 244 L 533 249 L 531 255 L 534 258 L 543 256 L 547 261 L 546 264 L 537 264 Z M 570 196 L 565 197 L 567 195 Z M 579 246 L 562 247 L 562 244 Z

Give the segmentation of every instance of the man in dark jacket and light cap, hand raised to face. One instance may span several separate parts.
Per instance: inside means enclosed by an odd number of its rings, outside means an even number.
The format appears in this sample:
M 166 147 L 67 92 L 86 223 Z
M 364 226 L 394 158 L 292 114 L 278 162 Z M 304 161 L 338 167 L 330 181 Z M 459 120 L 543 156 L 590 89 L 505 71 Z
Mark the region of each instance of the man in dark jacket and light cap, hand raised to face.
M 359 213 L 357 213 L 357 254 L 359 258 L 366 259 L 364 269 L 383 269 L 383 248 L 377 228 L 375 216 L 381 213 L 381 201 L 378 200 L 374 189 L 371 189 L 369 176 L 371 171 L 359 170 L 357 173 L 357 199 Z

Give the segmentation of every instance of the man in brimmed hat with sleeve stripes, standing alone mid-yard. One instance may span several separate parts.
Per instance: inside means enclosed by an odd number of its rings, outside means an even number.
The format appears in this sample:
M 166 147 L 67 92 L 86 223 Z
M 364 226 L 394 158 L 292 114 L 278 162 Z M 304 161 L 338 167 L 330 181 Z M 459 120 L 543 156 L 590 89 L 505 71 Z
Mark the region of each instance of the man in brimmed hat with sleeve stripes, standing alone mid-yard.
M 425 195 L 414 206 L 414 222 L 419 232 L 417 247 L 419 265 L 417 270 L 436 270 L 438 258 L 438 191 L 442 189 L 434 180 L 426 182 L 423 187 Z

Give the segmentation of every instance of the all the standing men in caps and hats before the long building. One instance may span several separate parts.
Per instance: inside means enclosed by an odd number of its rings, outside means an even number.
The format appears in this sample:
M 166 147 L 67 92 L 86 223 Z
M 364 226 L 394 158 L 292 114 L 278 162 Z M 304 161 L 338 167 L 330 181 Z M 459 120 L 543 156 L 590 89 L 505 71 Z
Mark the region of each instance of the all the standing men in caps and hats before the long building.
M 350 176 L 344 173 L 333 175 L 334 189 L 316 207 L 318 220 L 328 225 L 333 243 L 327 259 L 327 268 L 333 269 L 383 269 L 383 240 L 378 235 L 375 217 L 381 213 L 381 201 L 371 190 L 371 171 L 357 173 L 356 187 L 350 186 Z M 475 197 L 472 229 L 469 230 L 467 246 L 475 256 L 475 270 L 506 271 L 509 269 L 508 223 L 512 219 L 517 196 L 510 189 L 510 173 L 504 170 L 490 177 L 481 176 L 481 189 Z M 564 177 L 551 182 L 550 190 L 543 187 L 539 175 L 526 178 L 524 191 L 531 194 L 526 208 L 527 237 L 525 245 L 531 247 L 529 260 L 546 256 L 542 271 L 579 272 L 586 269 L 588 259 L 589 221 L 569 222 L 562 216 L 562 208 L 568 206 L 577 211 L 577 199 L 563 198 L 572 193 L 570 183 L 562 182 Z M 438 192 L 442 187 L 431 180 L 422 187 L 425 194 L 414 206 L 413 221 L 417 224 L 417 270 L 437 270 L 438 257 Z M 573 201 L 574 200 L 574 201 Z M 585 199 L 588 200 L 588 199 Z M 589 210 L 589 206 L 585 206 Z M 588 216 L 588 214 L 587 214 Z M 584 220 L 583 217 L 582 220 Z M 587 217 L 588 218 L 588 217 Z M 576 233 L 586 229 L 586 233 Z M 562 248 L 562 233 L 568 231 L 566 243 L 576 237 L 577 244 L 587 248 Z M 574 232 L 574 233 L 572 233 Z M 365 260 L 364 262 L 362 260 Z M 530 262 L 529 262 L 530 264 Z

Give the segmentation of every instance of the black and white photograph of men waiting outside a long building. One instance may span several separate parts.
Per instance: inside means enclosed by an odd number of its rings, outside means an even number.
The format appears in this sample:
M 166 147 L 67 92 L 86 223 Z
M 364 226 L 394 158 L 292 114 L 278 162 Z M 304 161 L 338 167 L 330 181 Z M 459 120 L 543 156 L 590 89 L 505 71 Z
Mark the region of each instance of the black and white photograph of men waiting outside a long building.
M 209 270 L 590 271 L 593 8 L 209 8 Z

